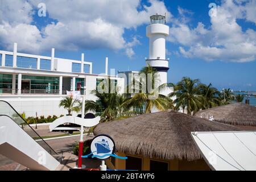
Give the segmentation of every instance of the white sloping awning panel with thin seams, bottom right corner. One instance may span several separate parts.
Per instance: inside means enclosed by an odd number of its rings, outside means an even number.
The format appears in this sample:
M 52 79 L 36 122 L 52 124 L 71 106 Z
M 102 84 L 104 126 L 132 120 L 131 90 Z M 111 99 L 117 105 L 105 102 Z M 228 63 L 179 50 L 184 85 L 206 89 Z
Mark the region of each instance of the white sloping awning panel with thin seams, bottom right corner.
M 256 131 L 191 132 L 191 134 L 211 169 L 256 170 Z

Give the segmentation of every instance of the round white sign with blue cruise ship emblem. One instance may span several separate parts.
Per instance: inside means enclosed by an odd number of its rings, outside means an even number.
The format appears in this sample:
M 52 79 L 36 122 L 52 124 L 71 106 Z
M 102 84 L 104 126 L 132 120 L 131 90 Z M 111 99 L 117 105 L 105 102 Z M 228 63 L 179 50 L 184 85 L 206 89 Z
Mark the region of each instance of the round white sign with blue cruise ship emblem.
M 90 151 L 94 158 L 108 159 L 115 150 L 114 140 L 107 135 L 98 135 L 90 144 Z

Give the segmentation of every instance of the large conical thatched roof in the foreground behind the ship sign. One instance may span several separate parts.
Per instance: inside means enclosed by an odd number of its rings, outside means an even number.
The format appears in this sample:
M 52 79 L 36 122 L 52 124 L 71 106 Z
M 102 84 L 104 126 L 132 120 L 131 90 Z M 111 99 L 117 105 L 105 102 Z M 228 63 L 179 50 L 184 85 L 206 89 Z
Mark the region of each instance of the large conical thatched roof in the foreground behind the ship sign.
M 176 111 L 161 111 L 101 123 L 94 134 L 107 134 L 118 151 L 158 159 L 200 159 L 191 131 L 237 131 L 237 127 Z

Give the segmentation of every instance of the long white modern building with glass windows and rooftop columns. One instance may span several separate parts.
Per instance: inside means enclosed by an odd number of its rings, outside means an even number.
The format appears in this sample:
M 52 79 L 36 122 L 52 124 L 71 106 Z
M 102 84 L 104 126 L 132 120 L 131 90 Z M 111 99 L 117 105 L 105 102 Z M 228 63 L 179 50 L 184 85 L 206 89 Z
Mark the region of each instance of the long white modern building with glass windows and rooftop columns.
M 51 57 L 31 55 L 17 51 L 0 51 L 0 100 L 9 102 L 19 113 L 28 116 L 67 114 L 59 108 L 60 100 L 67 96 L 67 90 L 80 90 L 86 100 L 96 101 L 90 94 L 104 79 L 114 79 L 119 92 L 122 92 L 124 79 L 108 75 L 108 57 L 105 60 L 105 73 L 94 74 L 93 65 L 84 60 L 69 60 L 55 57 L 52 48 Z M 103 62 L 103 61 L 102 61 Z

